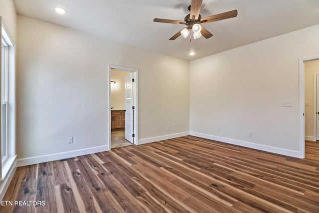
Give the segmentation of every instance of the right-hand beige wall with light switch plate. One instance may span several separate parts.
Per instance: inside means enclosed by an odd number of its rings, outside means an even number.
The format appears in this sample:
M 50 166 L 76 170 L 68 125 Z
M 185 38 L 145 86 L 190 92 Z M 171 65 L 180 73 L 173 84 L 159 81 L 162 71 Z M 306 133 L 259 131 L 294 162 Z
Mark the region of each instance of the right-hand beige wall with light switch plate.
M 191 61 L 191 134 L 302 156 L 299 59 L 319 55 L 318 35 L 315 25 Z

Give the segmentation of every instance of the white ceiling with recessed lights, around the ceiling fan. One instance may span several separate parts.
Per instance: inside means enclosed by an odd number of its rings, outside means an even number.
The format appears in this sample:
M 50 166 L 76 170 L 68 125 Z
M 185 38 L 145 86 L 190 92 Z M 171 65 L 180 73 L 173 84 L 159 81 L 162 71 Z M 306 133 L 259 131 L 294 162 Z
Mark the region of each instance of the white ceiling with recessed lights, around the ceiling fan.
M 319 24 L 319 0 L 203 0 L 201 16 L 237 9 L 235 18 L 204 24 L 214 36 L 168 40 L 184 25 L 191 0 L 13 0 L 17 14 L 143 49 L 193 60 Z M 64 15 L 53 8 L 66 8 Z M 195 55 L 188 53 L 194 51 Z

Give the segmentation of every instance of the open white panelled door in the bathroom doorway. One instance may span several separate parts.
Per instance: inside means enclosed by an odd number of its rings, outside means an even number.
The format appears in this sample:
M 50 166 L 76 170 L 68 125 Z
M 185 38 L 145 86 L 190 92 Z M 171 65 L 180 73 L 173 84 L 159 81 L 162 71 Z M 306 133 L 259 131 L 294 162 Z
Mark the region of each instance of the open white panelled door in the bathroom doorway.
M 134 143 L 133 72 L 125 76 L 125 139 Z

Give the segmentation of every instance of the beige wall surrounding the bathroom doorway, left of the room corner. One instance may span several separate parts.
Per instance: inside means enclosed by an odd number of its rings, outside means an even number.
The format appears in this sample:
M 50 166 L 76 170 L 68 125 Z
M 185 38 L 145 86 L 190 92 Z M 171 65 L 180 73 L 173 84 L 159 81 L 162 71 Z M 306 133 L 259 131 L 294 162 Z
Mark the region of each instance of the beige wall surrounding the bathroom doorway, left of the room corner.
M 188 131 L 188 61 L 17 17 L 19 159 L 105 148 L 110 64 L 139 70 L 140 140 Z

